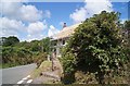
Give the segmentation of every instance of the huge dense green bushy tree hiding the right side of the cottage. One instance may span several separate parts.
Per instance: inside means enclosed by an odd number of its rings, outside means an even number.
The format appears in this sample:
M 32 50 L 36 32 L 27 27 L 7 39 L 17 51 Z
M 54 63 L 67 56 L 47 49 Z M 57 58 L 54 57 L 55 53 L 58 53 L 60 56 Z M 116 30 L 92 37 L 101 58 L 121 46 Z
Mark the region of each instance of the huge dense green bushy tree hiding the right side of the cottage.
M 99 83 L 104 83 L 105 74 L 123 69 L 126 57 L 120 29 L 119 13 L 102 11 L 87 19 L 76 28 L 64 48 L 64 72 L 91 72 L 96 75 Z M 70 53 L 75 58 L 72 59 Z

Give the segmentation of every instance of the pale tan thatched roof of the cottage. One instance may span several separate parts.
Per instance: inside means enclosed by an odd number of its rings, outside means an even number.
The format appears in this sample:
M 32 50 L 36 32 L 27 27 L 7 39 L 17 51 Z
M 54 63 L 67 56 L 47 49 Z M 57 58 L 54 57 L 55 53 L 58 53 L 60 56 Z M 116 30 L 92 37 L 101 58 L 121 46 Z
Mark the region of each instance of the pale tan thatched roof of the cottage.
M 79 24 L 75 24 L 75 25 L 72 25 L 72 26 L 64 27 L 60 33 L 54 35 L 53 38 L 54 39 L 62 39 L 62 38 L 69 37 L 72 34 L 74 34 L 74 30 L 76 29 L 76 27 L 79 26 Z

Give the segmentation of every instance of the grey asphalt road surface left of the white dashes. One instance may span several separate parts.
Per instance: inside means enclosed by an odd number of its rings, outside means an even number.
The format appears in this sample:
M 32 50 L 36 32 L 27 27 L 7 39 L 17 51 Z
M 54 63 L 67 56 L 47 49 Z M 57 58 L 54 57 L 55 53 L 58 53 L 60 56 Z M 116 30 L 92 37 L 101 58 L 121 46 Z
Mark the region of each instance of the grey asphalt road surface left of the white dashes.
M 35 69 L 36 64 L 21 65 L 2 70 L 2 84 L 17 84 L 18 81 L 29 75 Z M 0 70 L 1 71 L 1 70 Z

